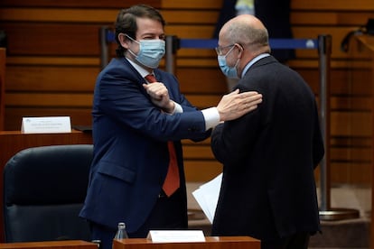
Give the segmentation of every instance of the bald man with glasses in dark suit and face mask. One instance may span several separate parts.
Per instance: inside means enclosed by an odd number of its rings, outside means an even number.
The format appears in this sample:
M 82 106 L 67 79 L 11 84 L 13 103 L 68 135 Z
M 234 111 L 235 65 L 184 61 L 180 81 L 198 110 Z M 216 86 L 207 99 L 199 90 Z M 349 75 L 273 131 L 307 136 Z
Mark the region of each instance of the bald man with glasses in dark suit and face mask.
M 211 134 L 223 163 L 212 235 L 250 235 L 262 249 L 306 249 L 320 230 L 313 170 L 324 153 L 313 92 L 269 54 L 266 27 L 253 15 L 224 24 L 216 50 L 222 72 L 263 102 Z

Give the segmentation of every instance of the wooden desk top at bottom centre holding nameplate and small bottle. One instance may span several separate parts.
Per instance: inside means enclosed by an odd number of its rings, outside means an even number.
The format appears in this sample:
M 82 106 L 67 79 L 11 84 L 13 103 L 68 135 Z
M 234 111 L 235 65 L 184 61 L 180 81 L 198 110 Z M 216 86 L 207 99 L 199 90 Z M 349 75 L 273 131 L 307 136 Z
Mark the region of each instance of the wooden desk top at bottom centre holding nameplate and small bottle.
M 205 237 L 205 242 L 153 243 L 142 238 L 114 240 L 113 249 L 260 249 L 259 240 L 249 236 Z

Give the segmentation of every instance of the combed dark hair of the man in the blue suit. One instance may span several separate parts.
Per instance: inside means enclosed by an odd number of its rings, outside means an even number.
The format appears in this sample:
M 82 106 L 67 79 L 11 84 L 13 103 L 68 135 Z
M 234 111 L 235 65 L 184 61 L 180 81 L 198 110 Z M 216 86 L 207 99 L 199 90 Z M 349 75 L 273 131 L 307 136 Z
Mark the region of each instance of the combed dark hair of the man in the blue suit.
M 119 33 L 126 33 L 128 36 L 136 40 L 136 17 L 146 17 L 158 21 L 165 25 L 164 17 L 154 7 L 149 5 L 133 5 L 127 9 L 122 9 L 117 14 L 116 20 L 116 41 L 117 41 L 117 57 L 124 57 L 126 49 L 121 46 L 118 40 Z

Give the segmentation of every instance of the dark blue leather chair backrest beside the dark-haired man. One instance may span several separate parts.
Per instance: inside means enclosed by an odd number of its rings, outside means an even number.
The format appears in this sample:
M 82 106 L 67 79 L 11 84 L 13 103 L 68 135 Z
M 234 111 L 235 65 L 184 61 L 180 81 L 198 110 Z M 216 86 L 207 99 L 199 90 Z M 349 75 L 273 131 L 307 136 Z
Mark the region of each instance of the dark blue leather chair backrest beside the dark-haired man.
M 16 153 L 4 169 L 5 242 L 89 240 L 79 217 L 93 145 L 51 145 Z

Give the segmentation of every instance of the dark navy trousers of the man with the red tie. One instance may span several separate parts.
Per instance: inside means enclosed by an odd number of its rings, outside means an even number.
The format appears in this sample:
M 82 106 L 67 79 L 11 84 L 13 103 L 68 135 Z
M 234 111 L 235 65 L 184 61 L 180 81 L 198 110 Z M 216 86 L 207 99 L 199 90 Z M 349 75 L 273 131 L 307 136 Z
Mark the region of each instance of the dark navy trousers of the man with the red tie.
M 187 211 L 185 210 L 185 195 L 178 189 L 170 198 L 160 195 L 145 224 L 135 233 L 128 233 L 130 238 L 145 238 L 149 230 L 187 229 Z M 125 221 L 126 222 L 126 221 Z M 101 249 L 111 249 L 117 230 L 90 223 L 92 240 L 101 241 Z

